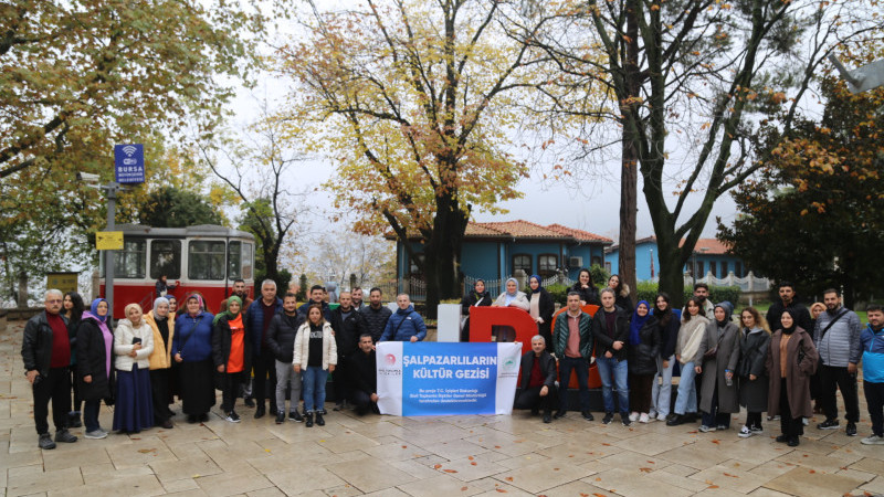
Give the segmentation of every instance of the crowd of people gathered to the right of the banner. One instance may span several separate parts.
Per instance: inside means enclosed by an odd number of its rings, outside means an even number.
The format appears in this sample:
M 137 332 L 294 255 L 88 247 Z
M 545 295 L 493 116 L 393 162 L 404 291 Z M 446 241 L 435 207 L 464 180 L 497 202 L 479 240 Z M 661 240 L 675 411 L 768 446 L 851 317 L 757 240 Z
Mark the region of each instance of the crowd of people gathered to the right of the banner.
M 545 292 L 539 283 L 539 277 L 530 277 L 533 295 Z M 538 314 L 538 334 L 522 359 L 516 409 L 530 409 L 535 414 L 543 411 L 545 423 L 565 416 L 569 408 L 567 385 L 573 373 L 581 414 L 592 421 L 588 382 L 594 362 L 602 383 L 604 424 L 617 412 L 627 426 L 654 420 L 675 426 L 699 417 L 698 430 L 705 433 L 728 430 L 732 414 L 743 406 L 747 415 L 738 432 L 740 437 L 761 432 L 762 414 L 767 413 L 768 420 L 780 420 L 777 441 L 797 446 L 814 412 L 813 400 L 817 412 L 825 415 L 817 427 L 839 429 L 838 390 L 846 410 L 845 433 L 857 434 L 856 373 L 862 359 L 873 432 L 862 443 L 884 444 L 881 306 L 867 307 L 869 325 L 863 329 L 856 314 L 842 306 L 838 290 L 825 290 L 823 302 L 808 310 L 796 300 L 794 286 L 781 283 L 780 299 L 766 317 L 746 307 L 735 322 L 733 305 L 711 303 L 703 283 L 694 286 L 693 297 L 681 311 L 671 307 L 665 293 L 656 295 L 653 306 L 640 300 L 631 308 L 628 289 L 621 288 L 617 275 L 609 285 L 597 294 L 589 272 L 583 269 L 551 334 L 551 313 Z M 533 296 L 527 296 L 528 306 L 517 304 L 520 293 L 514 289 L 508 288 L 507 299 L 502 296 L 495 304 L 516 305 L 528 311 L 543 308 L 543 297 L 537 297 L 536 307 L 530 306 Z M 465 303 L 481 302 L 480 288 L 474 294 L 467 295 Z M 594 316 L 582 310 L 587 304 L 599 305 Z M 676 364 L 681 378 L 673 402 Z

